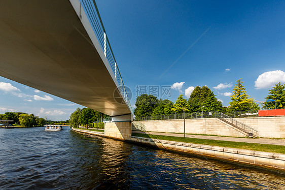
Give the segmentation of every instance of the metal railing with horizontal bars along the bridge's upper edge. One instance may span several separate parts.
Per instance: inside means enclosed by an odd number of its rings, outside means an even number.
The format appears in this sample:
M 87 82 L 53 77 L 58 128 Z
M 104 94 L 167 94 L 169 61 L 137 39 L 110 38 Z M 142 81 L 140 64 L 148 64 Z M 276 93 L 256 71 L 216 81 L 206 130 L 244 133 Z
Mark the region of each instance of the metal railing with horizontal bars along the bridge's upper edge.
M 106 59 L 109 62 L 110 67 L 112 68 L 115 78 L 120 85 L 120 89 L 122 91 L 122 96 L 125 100 L 125 103 L 129 107 L 130 111 L 133 113 L 128 94 L 124 82 L 122 80 L 122 76 L 120 74 L 117 61 L 111 48 L 108 36 L 106 35 L 106 31 L 101 20 L 97 5 L 94 0 L 80 0 L 80 3 L 89 19 L 90 24 L 93 27 L 94 33 L 101 45 L 101 48 L 104 52 Z

